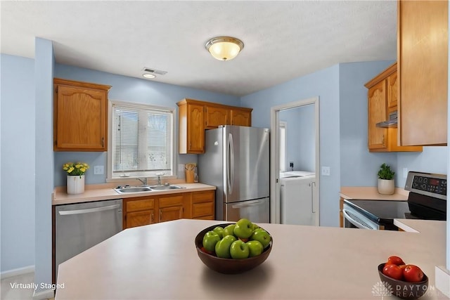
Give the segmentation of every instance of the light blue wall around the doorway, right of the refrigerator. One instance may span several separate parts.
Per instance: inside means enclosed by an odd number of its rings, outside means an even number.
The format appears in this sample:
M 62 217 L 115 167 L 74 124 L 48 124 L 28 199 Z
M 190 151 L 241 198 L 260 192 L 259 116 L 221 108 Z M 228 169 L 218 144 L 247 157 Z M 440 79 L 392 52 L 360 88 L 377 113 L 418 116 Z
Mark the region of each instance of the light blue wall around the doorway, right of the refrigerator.
M 241 98 L 252 107 L 253 126 L 270 128 L 271 107 L 319 96 L 321 166 L 330 167 L 331 176 L 320 177 L 320 224 L 339 225 L 340 132 L 339 66 L 328 67 L 304 77 L 258 91 Z

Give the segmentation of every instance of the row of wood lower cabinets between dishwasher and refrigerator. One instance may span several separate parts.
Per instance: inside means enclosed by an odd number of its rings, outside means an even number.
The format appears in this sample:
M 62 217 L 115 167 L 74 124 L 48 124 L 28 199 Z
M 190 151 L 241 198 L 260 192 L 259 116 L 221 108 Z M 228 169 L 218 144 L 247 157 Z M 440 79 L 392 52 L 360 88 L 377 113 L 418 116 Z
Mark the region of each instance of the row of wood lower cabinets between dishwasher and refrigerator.
M 214 220 L 214 190 L 124 199 L 123 228 L 178 219 Z

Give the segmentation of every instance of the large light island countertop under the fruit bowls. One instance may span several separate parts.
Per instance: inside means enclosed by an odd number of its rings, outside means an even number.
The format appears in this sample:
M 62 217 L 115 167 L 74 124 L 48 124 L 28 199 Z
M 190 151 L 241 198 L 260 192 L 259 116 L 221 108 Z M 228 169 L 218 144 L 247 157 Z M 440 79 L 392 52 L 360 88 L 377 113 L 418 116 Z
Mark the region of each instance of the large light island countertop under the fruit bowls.
M 238 275 L 216 273 L 198 258 L 195 235 L 215 223 L 226 222 L 182 219 L 124 230 L 60 264 L 56 300 L 383 299 L 374 288 L 377 266 L 391 255 L 428 275 L 420 299 L 448 299 L 435 289 L 435 266 L 445 264 L 444 221 L 405 222 L 418 232 L 259 224 L 274 238 L 271 254 Z

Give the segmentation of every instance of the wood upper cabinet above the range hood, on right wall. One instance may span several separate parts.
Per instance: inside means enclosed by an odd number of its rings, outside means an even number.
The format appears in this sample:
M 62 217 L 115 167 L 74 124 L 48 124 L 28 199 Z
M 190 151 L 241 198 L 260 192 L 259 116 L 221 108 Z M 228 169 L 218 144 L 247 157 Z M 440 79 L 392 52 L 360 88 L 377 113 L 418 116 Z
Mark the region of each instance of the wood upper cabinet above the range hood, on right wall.
M 368 89 L 368 150 L 369 152 L 422 151 L 422 147 L 402 147 L 397 143 L 397 128 L 382 128 L 377 123 L 387 121 L 397 111 L 397 63 L 365 84 Z

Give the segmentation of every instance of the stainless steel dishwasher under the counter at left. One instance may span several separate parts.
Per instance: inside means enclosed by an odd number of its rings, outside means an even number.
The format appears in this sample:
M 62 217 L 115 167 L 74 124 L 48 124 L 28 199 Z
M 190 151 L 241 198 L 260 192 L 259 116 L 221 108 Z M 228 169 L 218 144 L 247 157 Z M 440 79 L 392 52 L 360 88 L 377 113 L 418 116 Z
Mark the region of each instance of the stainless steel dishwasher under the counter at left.
M 58 266 L 122 230 L 122 199 L 58 205 L 55 278 Z

